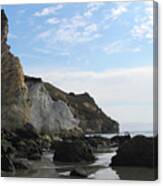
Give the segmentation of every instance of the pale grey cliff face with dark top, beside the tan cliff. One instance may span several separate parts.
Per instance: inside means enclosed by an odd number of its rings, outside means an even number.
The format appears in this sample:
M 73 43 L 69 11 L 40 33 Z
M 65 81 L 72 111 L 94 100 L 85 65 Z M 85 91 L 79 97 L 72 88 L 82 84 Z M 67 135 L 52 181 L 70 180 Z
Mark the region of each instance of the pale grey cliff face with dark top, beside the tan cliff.
M 27 77 L 25 82 L 31 100 L 31 123 L 41 133 L 59 134 L 78 130 L 78 120 L 62 100 L 53 100 L 40 78 Z

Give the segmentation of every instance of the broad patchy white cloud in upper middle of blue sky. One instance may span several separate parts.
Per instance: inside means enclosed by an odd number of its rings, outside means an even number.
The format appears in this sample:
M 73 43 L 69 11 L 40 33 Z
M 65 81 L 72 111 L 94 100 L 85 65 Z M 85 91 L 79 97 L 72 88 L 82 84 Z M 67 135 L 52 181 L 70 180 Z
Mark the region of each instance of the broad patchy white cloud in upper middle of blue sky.
M 53 44 L 56 42 L 77 44 L 89 42 L 98 37 L 101 37 L 98 25 L 79 15 L 61 19 L 58 28 L 55 27 L 38 34 L 39 39 Z

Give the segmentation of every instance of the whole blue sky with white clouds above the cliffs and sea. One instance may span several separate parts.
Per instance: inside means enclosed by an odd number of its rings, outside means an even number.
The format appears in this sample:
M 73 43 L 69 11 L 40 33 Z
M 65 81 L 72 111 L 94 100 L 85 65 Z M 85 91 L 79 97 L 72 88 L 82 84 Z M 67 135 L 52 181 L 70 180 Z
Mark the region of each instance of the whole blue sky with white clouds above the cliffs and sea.
M 6 5 L 25 74 L 88 92 L 121 125 L 153 122 L 153 2 Z

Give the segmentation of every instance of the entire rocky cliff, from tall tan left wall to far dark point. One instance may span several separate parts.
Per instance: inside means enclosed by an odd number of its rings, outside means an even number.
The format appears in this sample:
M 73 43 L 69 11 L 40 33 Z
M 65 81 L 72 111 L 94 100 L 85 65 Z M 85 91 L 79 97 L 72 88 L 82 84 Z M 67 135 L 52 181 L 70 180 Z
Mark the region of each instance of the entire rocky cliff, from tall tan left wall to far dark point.
M 118 132 L 118 123 L 88 93 L 67 94 L 39 78 L 24 77 L 7 45 L 8 20 L 1 11 L 2 128 L 30 122 L 39 132 Z

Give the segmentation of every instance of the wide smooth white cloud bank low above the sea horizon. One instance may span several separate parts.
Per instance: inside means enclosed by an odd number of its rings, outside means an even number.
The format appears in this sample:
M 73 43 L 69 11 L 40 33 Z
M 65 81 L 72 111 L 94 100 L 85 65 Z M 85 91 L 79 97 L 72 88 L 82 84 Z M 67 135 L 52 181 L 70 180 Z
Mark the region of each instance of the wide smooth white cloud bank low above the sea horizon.
M 67 92 L 89 92 L 119 122 L 152 122 L 152 66 L 103 72 L 58 69 L 34 72 Z

